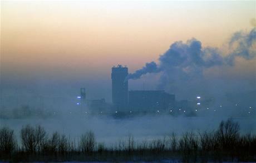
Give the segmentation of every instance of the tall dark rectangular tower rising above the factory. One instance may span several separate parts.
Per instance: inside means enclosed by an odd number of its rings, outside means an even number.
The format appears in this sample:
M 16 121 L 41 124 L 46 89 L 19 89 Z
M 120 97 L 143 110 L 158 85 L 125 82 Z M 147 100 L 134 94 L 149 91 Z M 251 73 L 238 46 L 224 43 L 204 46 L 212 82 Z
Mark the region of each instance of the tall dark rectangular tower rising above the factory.
M 117 106 L 126 106 L 128 104 L 128 68 L 117 65 L 112 67 L 112 103 Z

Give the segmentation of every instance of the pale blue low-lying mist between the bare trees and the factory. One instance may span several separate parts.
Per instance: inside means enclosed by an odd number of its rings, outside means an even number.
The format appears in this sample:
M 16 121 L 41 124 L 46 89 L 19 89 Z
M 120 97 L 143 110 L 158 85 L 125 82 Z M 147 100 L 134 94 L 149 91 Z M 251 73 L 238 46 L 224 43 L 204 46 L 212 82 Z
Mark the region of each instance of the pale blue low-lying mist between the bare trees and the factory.
M 92 115 L 87 111 L 73 109 L 73 111 L 53 111 L 48 116 L 35 115 L 19 119 L 1 119 L 1 126 L 8 126 L 14 129 L 16 135 L 19 135 L 19 130 L 24 125 L 42 125 L 47 133 L 58 131 L 58 133 L 66 134 L 72 139 L 79 139 L 81 134 L 91 130 L 95 133 L 98 142 L 105 142 L 110 145 L 129 134 L 132 134 L 136 141 L 143 141 L 170 136 L 173 132 L 181 135 L 186 131 L 214 130 L 221 120 L 230 118 L 230 115 L 221 115 L 220 109 L 218 111 L 213 109 L 198 110 L 196 116 L 186 116 L 185 114 L 173 116 L 168 113 L 156 113 L 134 115 L 127 118 L 115 118 L 113 115 L 104 113 Z M 224 106 L 221 109 L 224 109 Z M 254 118 L 255 115 L 233 117 L 240 124 L 241 133 L 255 134 Z

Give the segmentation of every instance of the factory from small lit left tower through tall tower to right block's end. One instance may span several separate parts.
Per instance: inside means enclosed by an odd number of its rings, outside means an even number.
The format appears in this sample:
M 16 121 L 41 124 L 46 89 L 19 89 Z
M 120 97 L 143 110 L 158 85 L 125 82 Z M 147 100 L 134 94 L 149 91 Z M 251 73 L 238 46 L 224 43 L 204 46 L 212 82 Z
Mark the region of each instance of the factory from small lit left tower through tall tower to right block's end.
M 80 103 L 87 106 L 91 113 L 107 113 L 112 110 L 123 113 L 168 111 L 175 106 L 175 95 L 164 90 L 130 90 L 128 91 L 128 68 L 122 65 L 112 67 L 112 104 L 105 99 L 87 100 L 85 88 L 81 88 Z

